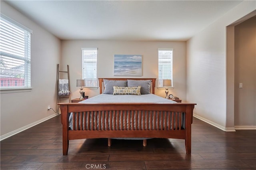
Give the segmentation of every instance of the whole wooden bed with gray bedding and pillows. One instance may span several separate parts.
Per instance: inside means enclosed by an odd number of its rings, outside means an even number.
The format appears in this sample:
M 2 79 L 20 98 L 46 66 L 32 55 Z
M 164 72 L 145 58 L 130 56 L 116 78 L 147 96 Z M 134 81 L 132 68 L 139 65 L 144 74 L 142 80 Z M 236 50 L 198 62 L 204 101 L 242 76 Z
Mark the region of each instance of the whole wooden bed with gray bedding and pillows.
M 178 138 L 185 140 L 186 153 L 191 154 L 195 103 L 176 103 L 154 95 L 155 78 L 98 80 L 100 95 L 80 103 L 58 103 L 63 155 L 68 154 L 69 140 L 83 138 L 108 138 L 108 146 L 112 138 L 142 139 L 143 146 L 147 138 Z M 121 99 L 116 101 L 116 97 Z

